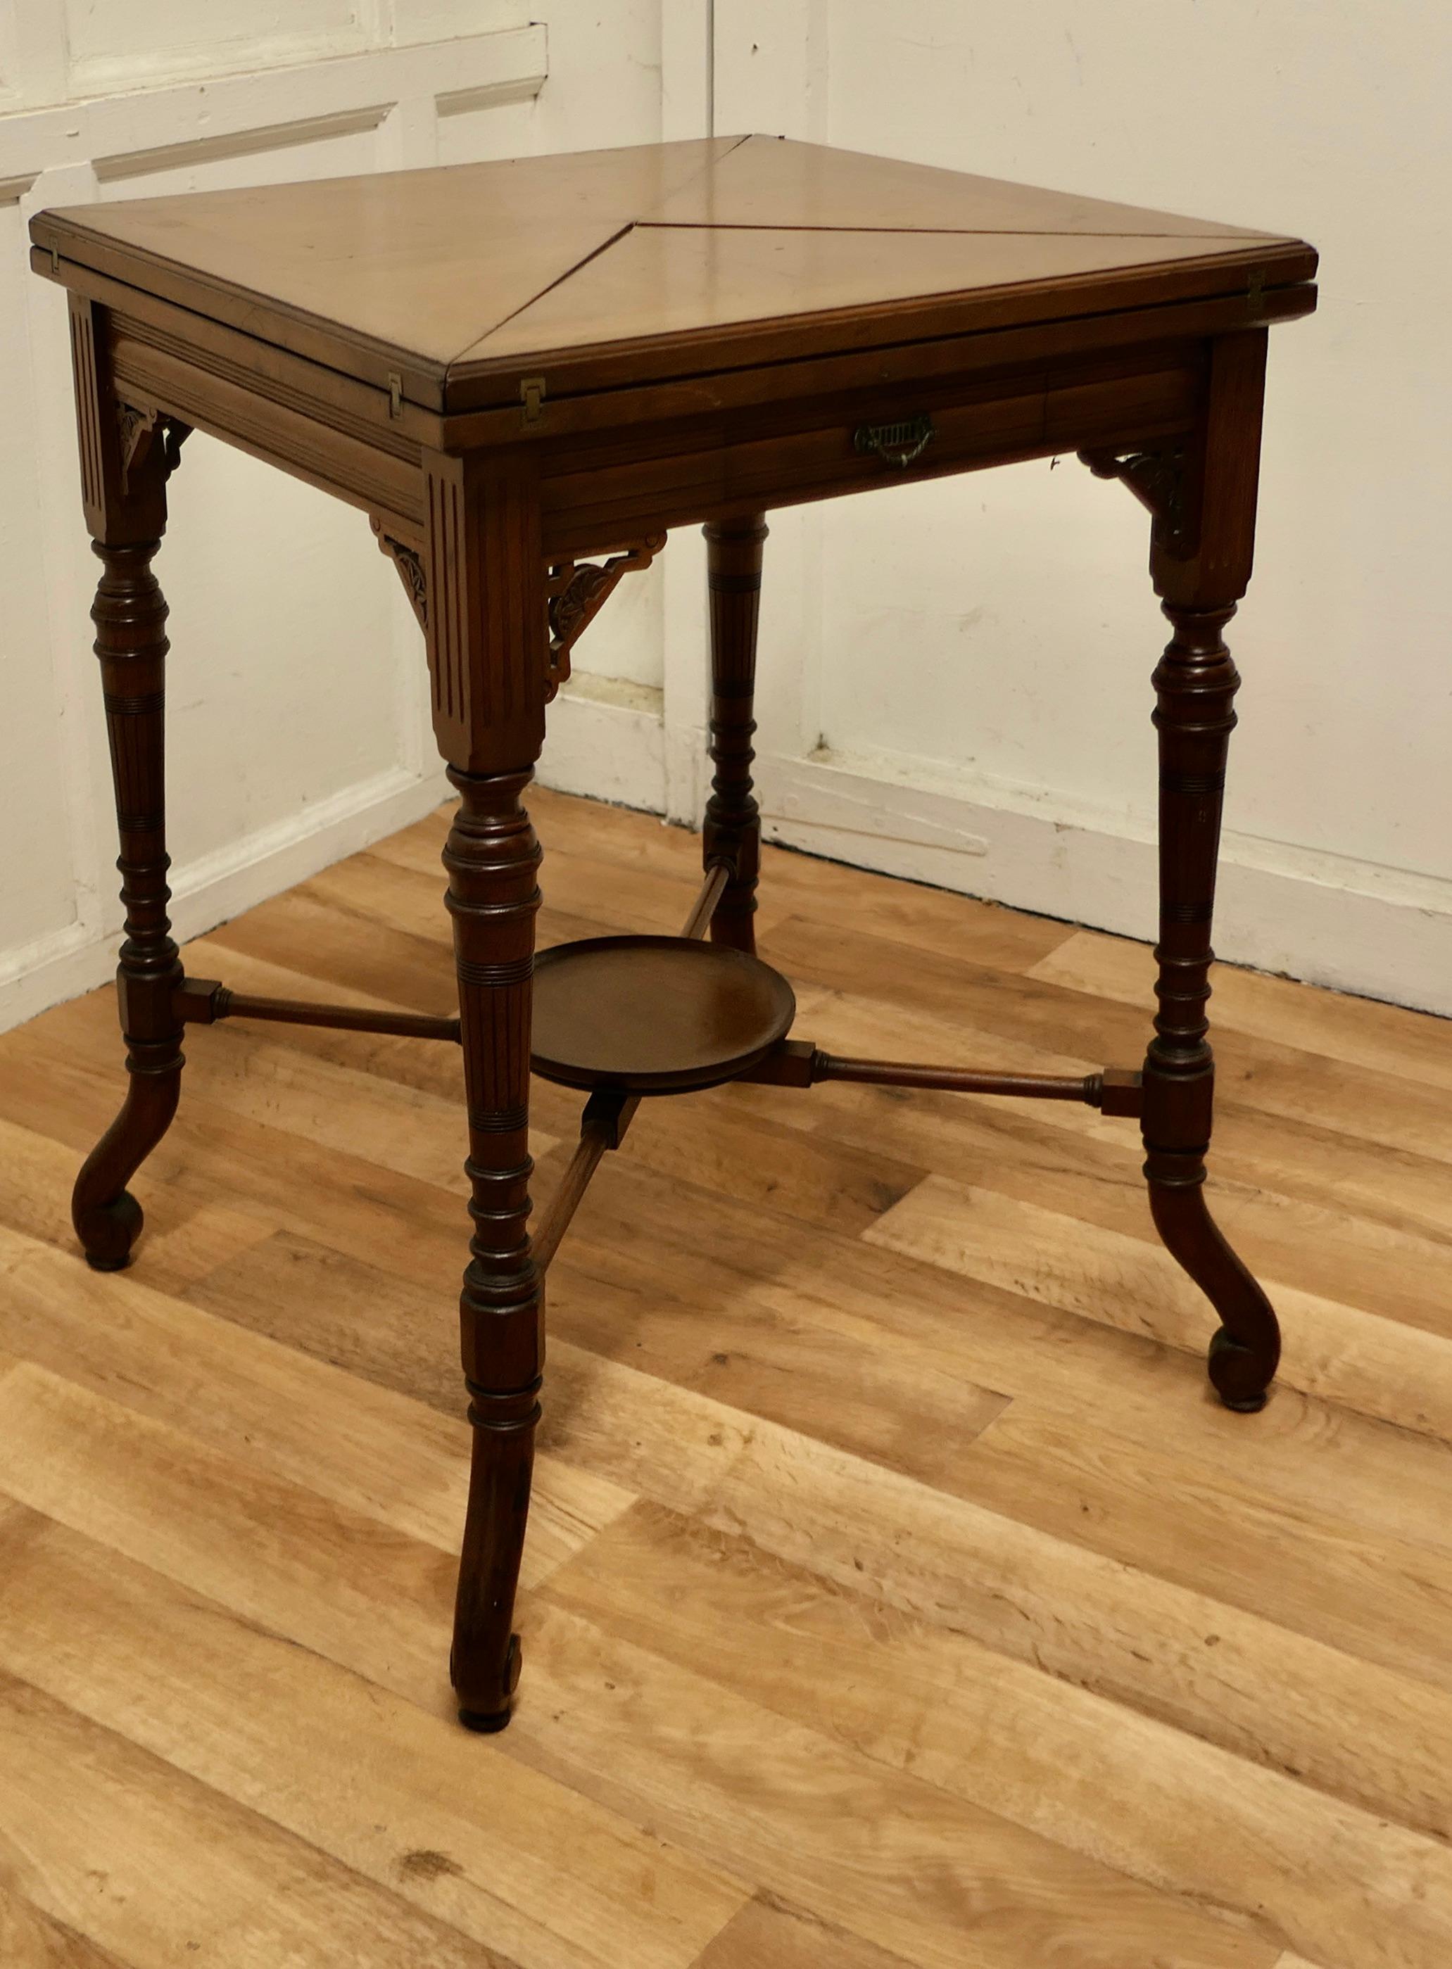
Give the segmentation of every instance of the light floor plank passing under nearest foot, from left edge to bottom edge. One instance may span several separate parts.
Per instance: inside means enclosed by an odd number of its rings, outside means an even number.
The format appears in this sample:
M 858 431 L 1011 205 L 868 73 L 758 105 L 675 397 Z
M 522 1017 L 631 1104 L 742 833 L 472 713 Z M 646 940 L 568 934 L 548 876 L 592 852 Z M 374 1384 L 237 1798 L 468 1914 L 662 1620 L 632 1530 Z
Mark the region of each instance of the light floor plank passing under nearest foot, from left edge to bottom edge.
M 83 1396 L 39 1368 L 16 1368 L 0 1382 L 0 1481 L 32 1508 L 65 1510 L 61 1522 L 73 1530 L 158 1565 L 165 1577 L 221 1599 L 384 1689 L 428 1701 L 428 1664 L 437 1660 L 447 1632 L 449 1599 L 447 1579 L 437 1577 L 429 1556 L 404 1550 L 398 1540 L 388 1544 L 341 1506 L 323 1506 L 301 1487 L 244 1471 L 179 1431 Z M 177 1491 L 169 1508 L 160 1494 L 165 1485 Z M 193 1498 L 185 1524 L 179 1522 L 183 1493 Z M 146 1510 L 148 1500 L 154 1510 L 160 1504 L 160 1526 Z M 755 1705 L 737 1703 L 721 1735 L 719 1697 L 703 1701 L 695 1691 L 688 1703 L 692 1691 L 680 1676 L 680 1685 L 672 1685 L 664 1662 L 650 1658 L 646 1676 L 634 1650 L 621 1652 L 575 1620 L 544 1617 L 538 1601 L 532 1636 L 532 1656 L 542 1654 L 544 1662 L 534 1666 L 534 1711 L 520 1705 L 510 1752 L 530 1754 L 538 1768 L 607 1808 L 644 1817 L 682 1845 L 707 1843 L 733 1873 L 749 1871 L 816 1912 L 867 1932 L 869 1939 L 892 1936 L 892 1945 L 902 1947 L 908 1937 L 910 1961 L 1028 1969 L 1044 1955 L 1052 1959 L 1072 1937 L 1086 1963 L 1097 1959 L 1107 1969 L 1123 1959 L 1123 1949 L 1160 1941 L 1168 1930 L 1176 1947 L 1168 1959 L 1186 1969 L 1200 1963 L 1269 1969 L 1263 1949 L 1247 1947 L 1239 1936 L 1221 1937 L 1196 1910 L 1158 1906 L 1158 1896 L 1147 1900 L 1119 1876 L 1101 1876 L 1062 1853 L 1050 1859 L 1038 1841 L 997 1819 L 965 1819 L 936 1790 L 912 1780 L 885 1790 L 871 1766 L 843 1760 L 816 1735 L 784 1737 Z M 623 1713 L 617 1695 L 627 1687 L 632 1711 L 646 1705 L 648 1727 L 638 1713 Z M 591 1693 L 593 1711 L 581 1689 Z M 601 1695 L 609 1701 L 601 1703 Z M 435 1707 L 447 1715 L 445 1701 Z M 540 1717 L 538 1729 L 530 1725 L 532 1713 Z M 589 1772 L 575 1768 L 587 1715 L 593 1715 Z M 709 1756 L 695 1756 L 690 1806 L 674 1806 L 680 1762 L 692 1748 Z M 829 1774 L 825 1796 L 845 1808 L 822 1825 L 812 1813 L 814 1772 Z M 889 1831 L 887 1853 L 869 1865 L 869 1853 L 879 1851 Z M 839 1878 L 825 1861 L 849 1835 L 857 1855 L 845 1855 Z M 863 1890 L 867 1906 L 855 1900 Z M 969 1918 L 965 1932 L 963 1918 Z

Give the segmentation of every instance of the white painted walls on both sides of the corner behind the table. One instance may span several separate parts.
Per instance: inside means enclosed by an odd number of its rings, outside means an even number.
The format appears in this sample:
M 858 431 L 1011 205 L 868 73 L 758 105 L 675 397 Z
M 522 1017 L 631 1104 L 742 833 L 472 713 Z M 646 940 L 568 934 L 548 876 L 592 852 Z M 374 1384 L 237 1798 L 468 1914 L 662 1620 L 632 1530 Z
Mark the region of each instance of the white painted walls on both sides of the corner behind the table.
M 65 335 L 59 295 L 24 272 L 28 213 L 711 128 L 1322 248 L 1320 315 L 1273 335 L 1216 943 L 1452 1012 L 1448 81 L 1452 16 L 1428 0 L 0 0 L 0 362 L 33 380 L 10 404 L 30 475 L 0 475 L 16 711 L 0 817 L 39 815 L 0 908 L 0 1020 L 100 979 L 118 921 Z M 102 93 L 73 104 L 83 91 Z M 288 122 L 294 140 L 254 136 Z M 193 146 L 177 169 L 138 159 L 177 142 Z M 418 636 L 366 528 L 203 439 L 173 494 L 173 857 L 193 933 L 422 811 L 439 780 Z M 238 540 L 288 603 L 280 638 L 254 618 Z M 1164 630 L 1145 557 L 1139 506 L 1072 461 L 780 514 L 759 701 L 770 831 L 1153 933 Z M 343 666 L 355 715 L 323 729 L 309 707 Z M 697 819 L 693 532 L 617 589 L 575 671 L 542 778 Z

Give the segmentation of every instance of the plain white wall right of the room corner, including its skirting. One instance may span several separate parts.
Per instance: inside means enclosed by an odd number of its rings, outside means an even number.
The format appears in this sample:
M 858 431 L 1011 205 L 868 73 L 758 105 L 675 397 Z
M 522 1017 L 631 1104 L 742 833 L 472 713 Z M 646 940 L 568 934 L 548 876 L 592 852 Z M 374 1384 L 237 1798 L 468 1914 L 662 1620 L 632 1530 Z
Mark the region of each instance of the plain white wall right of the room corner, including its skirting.
M 1271 335 L 1216 945 L 1442 1012 L 1450 83 L 1430 0 L 717 8 L 719 128 L 1320 246 L 1320 313 Z M 837 502 L 794 551 L 820 604 L 800 723 L 772 734 L 780 835 L 1151 933 L 1164 628 L 1135 502 L 1074 461 L 1023 465 Z

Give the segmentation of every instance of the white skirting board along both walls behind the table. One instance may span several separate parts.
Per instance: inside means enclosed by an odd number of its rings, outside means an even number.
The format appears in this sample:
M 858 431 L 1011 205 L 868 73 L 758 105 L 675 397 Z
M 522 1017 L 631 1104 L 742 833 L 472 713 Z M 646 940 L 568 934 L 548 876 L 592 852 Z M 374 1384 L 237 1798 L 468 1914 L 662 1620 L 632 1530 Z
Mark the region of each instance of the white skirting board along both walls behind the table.
M 668 748 L 692 748 L 703 760 L 705 734 L 668 734 L 658 701 L 660 693 L 640 685 L 577 679 L 550 709 L 540 784 L 662 813 Z M 1052 819 L 881 778 L 829 756 L 764 754 L 757 790 L 772 841 L 1119 935 L 1155 935 L 1155 843 L 1089 817 Z M 203 935 L 447 797 L 441 772 L 398 768 L 223 855 L 183 864 L 175 872 L 177 939 Z M 1216 949 L 1227 963 L 1452 1016 L 1448 890 L 1401 870 L 1225 835 Z M 95 943 L 75 925 L 43 947 L 14 951 L 0 975 L 0 1030 L 104 983 L 116 943 L 118 933 Z

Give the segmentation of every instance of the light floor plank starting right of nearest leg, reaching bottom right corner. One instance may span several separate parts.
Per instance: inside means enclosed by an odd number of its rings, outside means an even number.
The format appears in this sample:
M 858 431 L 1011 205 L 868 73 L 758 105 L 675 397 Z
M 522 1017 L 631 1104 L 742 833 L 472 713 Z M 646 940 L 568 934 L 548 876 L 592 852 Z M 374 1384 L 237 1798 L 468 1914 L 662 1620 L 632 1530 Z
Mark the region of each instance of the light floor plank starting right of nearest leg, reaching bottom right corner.
M 1452 1851 L 640 1504 L 548 1599 L 1021 1825 L 1243 1918 L 1271 1953 L 1438 1969 Z

